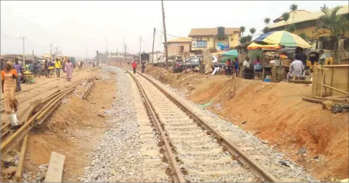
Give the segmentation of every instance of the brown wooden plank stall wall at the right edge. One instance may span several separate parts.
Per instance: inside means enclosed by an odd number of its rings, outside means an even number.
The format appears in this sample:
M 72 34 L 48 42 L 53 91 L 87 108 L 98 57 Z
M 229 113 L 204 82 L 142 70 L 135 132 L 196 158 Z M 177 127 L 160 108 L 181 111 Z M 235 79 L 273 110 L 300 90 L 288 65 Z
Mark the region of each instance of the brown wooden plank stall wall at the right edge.
M 320 67 L 320 68 L 319 68 Z M 324 83 L 333 88 L 348 92 L 349 90 L 349 65 L 324 65 Z M 323 95 L 325 92 L 325 87 L 322 89 L 322 78 L 323 69 L 321 66 L 314 66 L 313 80 L 312 80 L 312 96 L 321 95 L 321 90 L 323 90 Z M 330 88 L 326 88 L 327 93 L 330 93 Z M 342 92 L 331 90 L 332 96 L 343 96 Z

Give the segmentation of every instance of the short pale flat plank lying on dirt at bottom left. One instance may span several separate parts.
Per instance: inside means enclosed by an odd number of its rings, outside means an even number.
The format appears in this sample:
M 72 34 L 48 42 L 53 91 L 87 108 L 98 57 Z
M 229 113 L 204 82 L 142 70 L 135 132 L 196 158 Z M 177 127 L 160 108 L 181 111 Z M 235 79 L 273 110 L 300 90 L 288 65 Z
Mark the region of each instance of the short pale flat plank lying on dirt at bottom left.
M 54 151 L 51 152 L 50 161 L 48 163 L 48 169 L 45 177 L 45 182 L 61 182 L 63 166 L 66 156 L 58 154 Z

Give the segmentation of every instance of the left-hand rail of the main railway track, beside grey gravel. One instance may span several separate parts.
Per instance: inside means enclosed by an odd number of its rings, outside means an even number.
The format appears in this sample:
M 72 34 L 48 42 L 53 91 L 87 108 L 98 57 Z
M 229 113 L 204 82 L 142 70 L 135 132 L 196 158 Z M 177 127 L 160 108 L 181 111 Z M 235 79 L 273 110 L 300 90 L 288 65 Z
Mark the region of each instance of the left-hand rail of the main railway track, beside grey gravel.
M 165 135 L 165 132 L 161 127 L 160 121 L 156 117 L 156 113 L 155 113 L 153 106 L 151 105 L 147 95 L 145 94 L 144 89 L 142 88 L 141 84 L 136 79 L 136 77 L 130 73 L 130 71 L 128 71 L 126 69 L 124 69 L 124 70 L 127 71 L 130 74 L 130 76 L 132 77 L 132 79 L 135 81 L 137 88 L 139 89 L 142 97 L 144 98 L 144 104 L 145 104 L 146 108 L 148 109 L 147 111 L 150 115 L 150 118 L 151 118 L 153 124 L 154 124 L 154 127 L 160 132 L 159 137 L 161 138 L 162 143 L 163 143 L 162 148 L 165 150 L 164 152 L 165 152 L 165 156 L 166 156 L 167 160 L 169 160 L 170 164 L 172 165 L 174 181 L 175 182 L 186 182 L 184 179 L 184 176 L 183 176 L 183 174 L 182 174 L 182 172 L 177 164 L 175 156 L 172 152 L 172 149 L 170 147 L 170 143 L 167 140 L 167 136 Z

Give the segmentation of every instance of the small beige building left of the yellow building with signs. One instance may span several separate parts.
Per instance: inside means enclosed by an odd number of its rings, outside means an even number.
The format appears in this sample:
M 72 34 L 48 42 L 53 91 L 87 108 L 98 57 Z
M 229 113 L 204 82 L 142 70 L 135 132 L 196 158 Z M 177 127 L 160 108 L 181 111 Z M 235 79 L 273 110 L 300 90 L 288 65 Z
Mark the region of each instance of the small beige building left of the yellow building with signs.
M 167 42 L 168 56 L 181 56 L 184 53 L 189 53 L 191 51 L 192 38 L 183 37 L 173 39 Z M 165 53 L 165 50 L 164 50 Z

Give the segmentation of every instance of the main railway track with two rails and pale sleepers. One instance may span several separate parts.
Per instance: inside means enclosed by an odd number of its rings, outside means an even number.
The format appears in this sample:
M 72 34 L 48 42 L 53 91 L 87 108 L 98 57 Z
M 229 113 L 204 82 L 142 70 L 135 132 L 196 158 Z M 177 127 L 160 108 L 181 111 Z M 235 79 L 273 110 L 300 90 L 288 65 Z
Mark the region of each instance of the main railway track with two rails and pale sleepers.
M 196 115 L 197 111 L 182 105 L 180 99 L 173 97 L 146 76 L 134 75 L 131 69 L 123 69 L 128 71 L 137 83 L 153 126 L 160 127 L 156 128 L 155 132 L 155 137 L 160 137 L 160 139 L 155 142 L 162 145 L 161 150 L 158 151 L 160 154 L 165 153 L 166 162 L 169 163 L 169 166 L 162 171 L 165 171 L 167 175 L 172 175 L 174 181 L 278 181 L 253 157 L 247 156 L 227 137 L 207 124 L 202 119 L 203 115 Z M 137 95 L 134 96 L 136 101 L 140 100 Z M 142 126 L 142 124 L 148 124 L 148 121 L 144 120 L 147 118 L 144 112 L 139 113 L 143 115 L 139 118 L 141 134 L 148 135 L 148 138 L 143 140 L 146 143 L 143 148 L 146 152 L 144 154 L 156 155 L 158 153 L 154 147 L 150 128 Z M 237 143 L 241 143 L 239 140 L 241 139 L 236 139 Z M 242 148 L 253 149 L 251 147 Z M 160 155 L 160 157 L 164 156 Z M 152 162 L 157 162 L 158 165 L 158 161 L 160 160 L 156 159 Z M 158 167 L 155 172 L 161 174 L 160 169 Z

